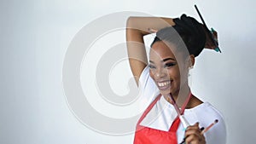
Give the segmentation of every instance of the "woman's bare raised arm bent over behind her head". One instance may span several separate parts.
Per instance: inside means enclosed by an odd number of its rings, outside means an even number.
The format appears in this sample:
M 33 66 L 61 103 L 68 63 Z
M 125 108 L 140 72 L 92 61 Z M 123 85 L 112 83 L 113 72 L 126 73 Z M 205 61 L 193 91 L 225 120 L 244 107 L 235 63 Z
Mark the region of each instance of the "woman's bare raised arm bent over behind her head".
M 145 66 L 148 65 L 146 49 L 143 36 L 149 34 L 148 28 L 156 31 L 166 27 L 174 26 L 171 18 L 159 17 L 130 17 L 126 25 L 126 42 L 131 66 L 131 72 L 138 85 L 138 80 Z

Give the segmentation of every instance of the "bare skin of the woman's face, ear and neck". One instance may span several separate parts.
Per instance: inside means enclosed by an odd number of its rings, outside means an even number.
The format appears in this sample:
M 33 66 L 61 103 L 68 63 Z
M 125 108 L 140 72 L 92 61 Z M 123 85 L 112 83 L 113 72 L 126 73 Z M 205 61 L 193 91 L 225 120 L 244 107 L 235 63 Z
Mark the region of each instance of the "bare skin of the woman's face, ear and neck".
M 195 63 L 195 57 L 194 55 L 189 55 L 191 62 L 188 60 L 188 63 L 179 66 L 176 58 L 183 55 L 174 55 L 171 50 L 172 48 L 170 49 L 170 47 L 175 48 L 173 45 L 167 46 L 166 43 L 162 41 L 152 45 L 149 54 L 150 77 L 154 79 L 154 82 L 158 86 L 160 82 L 163 82 L 164 84 L 164 82 L 170 81 L 171 84 L 169 88 L 161 89 L 159 86 L 160 93 L 165 96 L 166 100 L 168 95 L 172 93 L 174 100 L 177 100 L 178 95 L 189 95 L 190 93 L 188 72 L 189 66 L 192 66 Z M 184 80 L 181 81 L 181 78 Z M 201 100 L 192 96 L 186 108 L 196 107 L 201 103 Z

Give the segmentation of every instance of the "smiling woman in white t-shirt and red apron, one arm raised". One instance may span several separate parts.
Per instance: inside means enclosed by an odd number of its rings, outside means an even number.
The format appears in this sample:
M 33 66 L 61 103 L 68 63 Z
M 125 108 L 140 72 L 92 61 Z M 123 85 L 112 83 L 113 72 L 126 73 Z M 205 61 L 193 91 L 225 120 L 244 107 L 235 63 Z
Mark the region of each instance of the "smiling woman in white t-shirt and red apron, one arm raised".
M 149 52 L 149 64 L 143 42 L 143 36 L 149 34 L 148 29 L 156 32 Z M 195 57 L 205 47 L 215 47 L 207 32 L 205 27 L 185 14 L 173 20 L 156 17 L 131 17 L 127 20 L 131 71 L 142 89 L 142 96 L 154 100 L 137 123 L 135 144 L 225 143 L 226 130 L 221 114 L 210 103 L 191 94 L 188 84 L 189 67 L 194 66 Z M 173 101 L 170 101 L 170 96 Z M 177 117 L 180 113 L 175 111 L 176 103 L 192 124 L 188 128 Z M 219 123 L 206 134 L 201 133 L 215 119 Z

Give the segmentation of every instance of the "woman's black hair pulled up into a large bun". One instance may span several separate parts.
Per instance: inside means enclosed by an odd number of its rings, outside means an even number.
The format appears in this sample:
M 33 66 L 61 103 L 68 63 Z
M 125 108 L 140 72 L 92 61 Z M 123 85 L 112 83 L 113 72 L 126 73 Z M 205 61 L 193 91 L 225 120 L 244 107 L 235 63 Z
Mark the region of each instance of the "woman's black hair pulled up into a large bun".
M 174 19 L 175 26 L 169 26 L 156 32 L 153 43 L 164 41 L 176 46 L 177 51 L 189 52 L 189 55 L 200 55 L 206 43 L 203 25 L 192 17 L 183 14 L 180 19 Z M 185 50 L 185 51 L 184 51 Z M 187 52 L 187 54 L 188 54 Z

